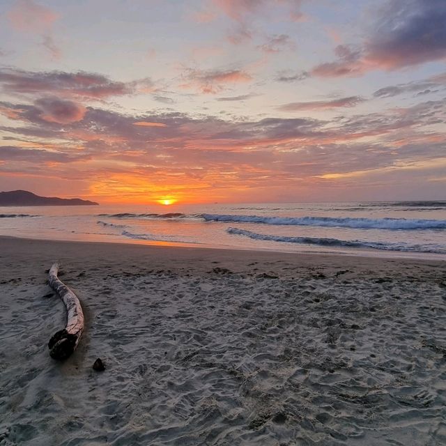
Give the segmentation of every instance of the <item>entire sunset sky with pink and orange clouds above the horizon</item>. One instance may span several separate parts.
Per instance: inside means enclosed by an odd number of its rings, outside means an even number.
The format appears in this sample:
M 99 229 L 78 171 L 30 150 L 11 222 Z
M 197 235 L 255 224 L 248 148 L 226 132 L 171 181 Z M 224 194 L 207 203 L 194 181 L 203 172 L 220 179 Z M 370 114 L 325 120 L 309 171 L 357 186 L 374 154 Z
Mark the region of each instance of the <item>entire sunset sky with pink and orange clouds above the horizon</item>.
M 446 199 L 446 0 L 1 0 L 0 191 Z

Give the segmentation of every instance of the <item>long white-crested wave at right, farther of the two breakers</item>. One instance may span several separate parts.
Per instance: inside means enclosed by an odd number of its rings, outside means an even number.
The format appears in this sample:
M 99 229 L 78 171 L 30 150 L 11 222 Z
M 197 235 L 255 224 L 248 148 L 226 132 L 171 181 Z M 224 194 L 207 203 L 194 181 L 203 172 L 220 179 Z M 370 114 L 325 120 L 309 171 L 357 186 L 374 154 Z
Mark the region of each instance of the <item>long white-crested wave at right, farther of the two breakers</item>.
M 291 226 L 325 226 L 352 229 L 446 229 L 446 220 L 406 218 L 263 217 L 257 215 L 202 214 L 208 222 L 263 223 Z

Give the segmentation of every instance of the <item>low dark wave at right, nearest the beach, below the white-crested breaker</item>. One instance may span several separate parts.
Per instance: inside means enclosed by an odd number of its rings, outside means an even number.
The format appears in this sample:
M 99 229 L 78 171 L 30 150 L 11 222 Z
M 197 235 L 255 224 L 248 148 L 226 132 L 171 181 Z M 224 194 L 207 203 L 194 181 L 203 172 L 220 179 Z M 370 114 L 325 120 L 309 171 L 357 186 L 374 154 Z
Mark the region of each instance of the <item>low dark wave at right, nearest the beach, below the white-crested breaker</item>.
M 259 234 L 245 229 L 228 228 L 226 231 L 237 236 L 245 236 L 254 240 L 269 240 L 282 243 L 299 243 L 300 245 L 318 245 L 325 247 L 353 247 L 383 249 L 385 251 L 429 252 L 445 254 L 446 249 L 436 245 L 408 245 L 406 243 L 362 242 L 360 240 L 339 240 L 337 238 L 288 237 Z

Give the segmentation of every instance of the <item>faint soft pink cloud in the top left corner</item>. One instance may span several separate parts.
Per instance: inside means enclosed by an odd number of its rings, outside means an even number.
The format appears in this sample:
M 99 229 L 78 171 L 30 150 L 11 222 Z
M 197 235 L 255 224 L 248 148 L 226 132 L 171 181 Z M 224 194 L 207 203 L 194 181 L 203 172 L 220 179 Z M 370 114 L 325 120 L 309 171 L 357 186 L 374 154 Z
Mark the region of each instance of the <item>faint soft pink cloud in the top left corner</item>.
M 36 33 L 47 31 L 59 17 L 51 9 L 32 0 L 17 0 L 6 16 L 15 29 Z

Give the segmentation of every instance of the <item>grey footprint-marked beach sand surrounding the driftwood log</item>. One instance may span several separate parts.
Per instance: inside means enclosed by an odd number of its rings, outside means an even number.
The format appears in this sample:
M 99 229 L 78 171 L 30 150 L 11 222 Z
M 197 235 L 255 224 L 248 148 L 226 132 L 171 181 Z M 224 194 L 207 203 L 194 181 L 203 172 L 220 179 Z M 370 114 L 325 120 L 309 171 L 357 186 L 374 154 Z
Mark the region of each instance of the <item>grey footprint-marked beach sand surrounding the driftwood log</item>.
M 445 445 L 445 307 L 446 262 L 0 238 L 0 445 Z

